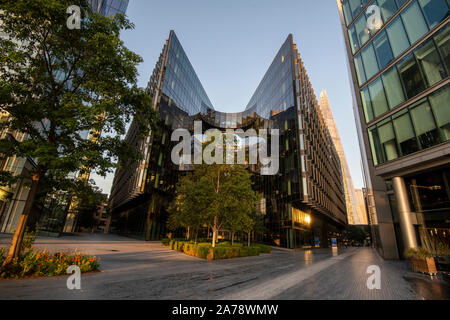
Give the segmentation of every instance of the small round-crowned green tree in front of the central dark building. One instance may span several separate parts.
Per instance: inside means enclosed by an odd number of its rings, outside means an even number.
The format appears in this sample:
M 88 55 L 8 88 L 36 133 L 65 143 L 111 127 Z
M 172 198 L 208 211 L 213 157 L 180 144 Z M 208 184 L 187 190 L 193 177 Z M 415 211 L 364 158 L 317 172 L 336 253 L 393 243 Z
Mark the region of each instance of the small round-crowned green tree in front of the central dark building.
M 181 179 L 172 213 L 182 226 L 209 226 L 215 247 L 219 230 L 241 224 L 255 209 L 256 199 L 243 166 L 197 165 Z

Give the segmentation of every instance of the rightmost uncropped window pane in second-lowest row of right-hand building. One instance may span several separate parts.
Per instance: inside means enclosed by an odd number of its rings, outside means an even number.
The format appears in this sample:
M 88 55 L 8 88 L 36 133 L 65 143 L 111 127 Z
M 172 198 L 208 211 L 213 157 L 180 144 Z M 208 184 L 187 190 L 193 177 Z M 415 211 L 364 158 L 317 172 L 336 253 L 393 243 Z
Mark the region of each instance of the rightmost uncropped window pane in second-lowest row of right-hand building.
M 414 54 L 416 55 L 417 61 L 419 61 L 428 86 L 432 86 L 445 77 L 446 72 L 433 40 L 429 40 L 420 45 L 414 51 Z

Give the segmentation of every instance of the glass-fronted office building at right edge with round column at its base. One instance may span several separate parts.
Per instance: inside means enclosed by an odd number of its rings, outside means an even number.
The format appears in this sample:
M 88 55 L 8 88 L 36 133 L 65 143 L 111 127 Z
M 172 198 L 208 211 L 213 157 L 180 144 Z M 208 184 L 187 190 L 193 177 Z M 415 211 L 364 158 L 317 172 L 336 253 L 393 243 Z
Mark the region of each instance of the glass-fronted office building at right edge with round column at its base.
M 337 5 L 379 251 L 397 259 L 408 248 L 448 246 L 449 2 Z

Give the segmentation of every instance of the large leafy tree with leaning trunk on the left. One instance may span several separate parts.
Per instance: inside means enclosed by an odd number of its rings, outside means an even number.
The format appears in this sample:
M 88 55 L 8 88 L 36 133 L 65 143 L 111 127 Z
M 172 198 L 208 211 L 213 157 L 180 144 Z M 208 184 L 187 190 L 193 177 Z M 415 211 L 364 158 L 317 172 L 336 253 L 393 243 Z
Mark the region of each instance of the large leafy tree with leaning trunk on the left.
M 66 10 L 74 4 L 83 13 L 79 30 L 66 23 Z M 93 170 L 105 176 L 119 158 L 139 159 L 139 151 L 120 135 L 132 117 L 147 134 L 155 112 L 136 85 L 142 58 L 119 38 L 121 30 L 133 28 L 124 15 L 95 14 L 86 0 L 3 0 L 0 21 L 8 35 L 0 39 L 0 108 L 9 114 L 0 130 L 26 134 L 23 141 L 0 141 L 0 154 L 37 161 L 9 263 L 18 257 L 44 180 L 50 185 L 64 180 L 67 189 L 76 189 L 77 179 L 68 179 L 69 173 Z

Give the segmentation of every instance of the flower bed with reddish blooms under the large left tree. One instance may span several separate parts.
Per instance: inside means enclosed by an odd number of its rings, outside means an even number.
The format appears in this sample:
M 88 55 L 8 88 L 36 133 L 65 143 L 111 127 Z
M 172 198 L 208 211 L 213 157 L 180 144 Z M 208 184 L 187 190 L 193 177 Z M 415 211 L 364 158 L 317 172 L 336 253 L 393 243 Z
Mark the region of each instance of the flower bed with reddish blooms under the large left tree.
M 49 254 L 46 251 L 28 251 L 20 259 L 5 267 L 5 249 L 0 250 L 0 279 L 23 277 L 52 277 L 65 275 L 71 265 L 80 267 L 81 272 L 96 271 L 100 258 L 85 254 Z

